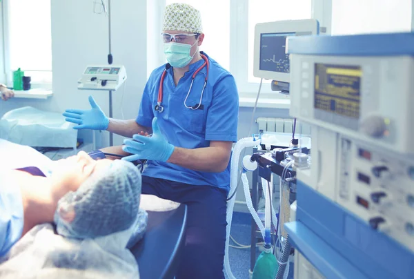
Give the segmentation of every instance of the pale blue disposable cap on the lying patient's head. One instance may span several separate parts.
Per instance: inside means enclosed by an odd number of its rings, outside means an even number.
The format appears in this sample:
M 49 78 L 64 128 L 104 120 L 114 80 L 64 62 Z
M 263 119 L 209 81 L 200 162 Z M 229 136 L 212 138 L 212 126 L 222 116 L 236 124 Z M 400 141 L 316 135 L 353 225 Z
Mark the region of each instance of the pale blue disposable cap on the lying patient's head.
M 59 200 L 57 233 L 84 239 L 124 231 L 137 219 L 140 195 L 141 173 L 130 162 L 115 160 Z M 73 214 L 75 218 L 68 221 Z

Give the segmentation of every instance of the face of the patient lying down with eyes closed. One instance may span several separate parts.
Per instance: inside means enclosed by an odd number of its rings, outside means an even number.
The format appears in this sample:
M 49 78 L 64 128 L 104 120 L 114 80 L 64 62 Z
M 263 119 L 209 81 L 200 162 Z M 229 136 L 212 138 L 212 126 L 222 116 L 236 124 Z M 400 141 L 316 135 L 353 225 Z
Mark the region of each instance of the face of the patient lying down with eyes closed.
M 104 171 L 112 164 L 111 160 L 93 160 L 86 152 L 79 151 L 77 155 L 55 162 L 51 175 L 55 186 L 66 191 L 76 191 L 92 173 Z

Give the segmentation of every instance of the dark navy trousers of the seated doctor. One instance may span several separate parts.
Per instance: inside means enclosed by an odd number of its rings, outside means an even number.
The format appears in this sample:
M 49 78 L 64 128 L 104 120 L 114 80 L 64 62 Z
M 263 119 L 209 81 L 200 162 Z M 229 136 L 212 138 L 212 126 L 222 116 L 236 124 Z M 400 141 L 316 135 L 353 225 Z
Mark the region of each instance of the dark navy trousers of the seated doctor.
M 142 176 L 142 193 L 187 205 L 185 248 L 175 278 L 224 278 L 226 191 Z

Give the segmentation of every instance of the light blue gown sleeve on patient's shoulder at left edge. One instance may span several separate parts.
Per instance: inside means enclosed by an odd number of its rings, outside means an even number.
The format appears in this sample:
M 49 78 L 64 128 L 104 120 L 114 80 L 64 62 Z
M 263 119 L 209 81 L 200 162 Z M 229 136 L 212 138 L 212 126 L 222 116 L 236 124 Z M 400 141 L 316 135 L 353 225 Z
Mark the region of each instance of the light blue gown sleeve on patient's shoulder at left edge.
M 7 173 L 0 172 L 0 257 L 20 239 L 23 232 L 23 202 L 20 188 Z

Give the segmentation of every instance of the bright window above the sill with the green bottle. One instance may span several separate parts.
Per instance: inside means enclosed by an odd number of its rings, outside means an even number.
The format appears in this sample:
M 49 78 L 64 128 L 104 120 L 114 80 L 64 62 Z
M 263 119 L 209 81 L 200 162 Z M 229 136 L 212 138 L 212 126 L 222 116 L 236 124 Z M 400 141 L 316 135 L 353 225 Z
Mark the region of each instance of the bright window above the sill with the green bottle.
M 50 0 L 3 0 L 5 71 L 21 68 L 32 84 L 52 82 Z

